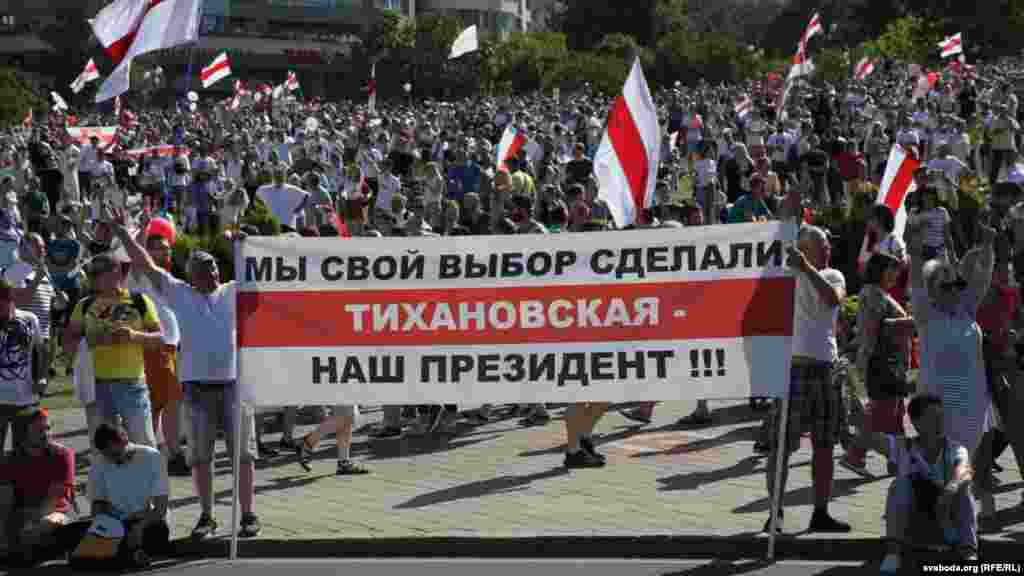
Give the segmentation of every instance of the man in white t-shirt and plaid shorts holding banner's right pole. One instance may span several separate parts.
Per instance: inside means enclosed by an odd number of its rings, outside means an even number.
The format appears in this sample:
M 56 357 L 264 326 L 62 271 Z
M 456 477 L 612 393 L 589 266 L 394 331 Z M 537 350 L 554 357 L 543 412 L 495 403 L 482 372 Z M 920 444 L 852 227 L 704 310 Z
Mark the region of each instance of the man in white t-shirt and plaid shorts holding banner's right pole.
M 797 247 L 790 249 L 788 264 L 797 274 L 796 307 L 793 321 L 793 368 L 790 377 L 790 422 L 787 446 L 782 453 L 782 485 L 785 494 L 790 456 L 800 447 L 800 438 L 811 433 L 814 447 L 811 478 L 814 483 L 814 513 L 809 532 L 845 533 L 850 525 L 828 515 L 836 467 L 833 451 L 838 440 L 842 390 L 833 385 L 833 366 L 839 358 L 836 321 L 846 297 L 843 273 L 828 268 L 831 255 L 828 233 L 817 227 L 800 230 Z M 776 425 L 779 419 L 776 418 Z M 776 428 L 777 430 L 777 428 Z M 766 466 L 768 494 L 775 487 L 778 433 L 771 435 L 771 454 Z M 778 524 L 781 532 L 782 505 Z M 771 519 L 765 532 L 771 530 Z

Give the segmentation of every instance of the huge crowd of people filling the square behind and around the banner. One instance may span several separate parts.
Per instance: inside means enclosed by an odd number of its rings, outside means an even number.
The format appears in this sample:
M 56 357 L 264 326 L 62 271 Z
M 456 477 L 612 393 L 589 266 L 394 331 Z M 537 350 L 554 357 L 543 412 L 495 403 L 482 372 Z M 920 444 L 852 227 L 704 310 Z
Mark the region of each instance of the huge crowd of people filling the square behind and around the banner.
M 849 531 L 827 506 L 834 450 L 854 425 L 841 465 L 872 476 L 866 458 L 877 452 L 896 477 L 883 571 L 898 570 L 902 544 L 932 537 L 977 559 L 979 517 L 994 512 L 994 460 L 1008 446 L 1019 462 L 1022 455 L 1024 436 L 1011 417 L 1024 406 L 1016 393 L 1017 271 L 1024 271 L 1018 66 L 947 71 L 915 93 L 916 77 L 891 64 L 842 86 L 801 85 L 783 107 L 780 86 L 769 80 L 677 84 L 654 94 L 664 132 L 655 202 L 629 228 L 801 223 L 788 254 L 797 304 L 783 488 L 787 455 L 809 433 L 810 529 Z M 745 97 L 750 112 L 736 107 Z M 260 206 L 280 234 L 301 237 L 612 231 L 594 175 L 608 104 L 588 91 L 382 102 L 374 111 L 312 100 L 247 101 L 236 111 L 142 104 L 113 119 L 121 126 L 113 150 L 98 138 L 71 138 L 63 117 L 7 131 L 0 148 L 0 442 L 10 425 L 12 452 L 0 464 L 9 488 L 0 505 L 17 511 L 4 527 L 10 549 L 30 559 L 44 542 L 75 549 L 102 525 L 75 521 L 75 454 L 49 439 L 38 407 L 59 356 L 92 441 L 91 509 L 81 516 L 123 525 L 126 558 L 141 562 L 166 545 L 168 476 L 194 480 L 202 513 L 191 536 L 217 531 L 212 464 L 221 428 L 229 454 L 242 451 L 240 533 L 259 533 L 254 462 L 275 451 L 251 409 L 234 438 L 237 285 L 222 281 L 223 262 L 200 250 L 184 255 L 184 278 L 176 278 L 175 235 L 269 234 L 249 217 Z M 102 126 L 111 116 L 77 121 Z M 528 142 L 499 163 L 496 145 L 510 125 Z M 922 163 L 905 233 L 902 215 L 877 203 L 893 146 Z M 132 149 L 150 152 L 125 154 Z M 984 184 L 990 192 L 979 216 L 963 218 L 963 198 Z M 815 225 L 824 213 L 866 220 L 860 258 L 831 261 L 834 246 L 850 239 Z M 173 223 L 154 227 L 158 219 Z M 854 295 L 851 322 L 840 312 Z M 850 347 L 864 382 L 859 398 L 836 377 Z M 915 380 L 911 369 L 920 371 Z M 847 417 L 856 412 L 851 404 L 863 408 L 861 421 Z M 649 422 L 654 406 L 622 414 Z M 567 467 L 605 465 L 592 434 L 609 408 L 568 408 Z M 484 423 L 505 409 L 523 425 L 551 419 L 545 405 L 387 406 L 376 436 L 455 434 L 460 419 Z M 337 474 L 366 475 L 350 455 L 358 414 L 355 406 L 334 407 L 314 431 L 295 438 L 296 412 L 286 409 L 278 447 L 311 469 L 321 439 L 335 434 Z M 700 402 L 680 424 L 713 421 Z M 780 421 L 777 409 L 767 414 L 755 445 L 769 455 L 769 491 Z M 777 530 L 782 520 L 779 509 Z

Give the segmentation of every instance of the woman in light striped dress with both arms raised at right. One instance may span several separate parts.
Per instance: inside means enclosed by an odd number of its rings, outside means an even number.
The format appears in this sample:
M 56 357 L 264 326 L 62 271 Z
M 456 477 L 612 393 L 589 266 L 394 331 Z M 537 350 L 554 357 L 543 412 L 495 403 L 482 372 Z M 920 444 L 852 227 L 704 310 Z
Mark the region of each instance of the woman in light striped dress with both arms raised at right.
M 980 225 L 981 244 L 957 266 L 945 260 L 924 261 L 923 231 L 908 222 L 913 318 L 921 338 L 918 390 L 942 399 L 950 440 L 974 457 L 992 423 L 991 397 L 985 379 L 982 334 L 975 318 L 992 279 L 995 231 Z M 983 508 L 991 495 L 981 492 Z M 986 501 L 987 500 L 987 501 Z

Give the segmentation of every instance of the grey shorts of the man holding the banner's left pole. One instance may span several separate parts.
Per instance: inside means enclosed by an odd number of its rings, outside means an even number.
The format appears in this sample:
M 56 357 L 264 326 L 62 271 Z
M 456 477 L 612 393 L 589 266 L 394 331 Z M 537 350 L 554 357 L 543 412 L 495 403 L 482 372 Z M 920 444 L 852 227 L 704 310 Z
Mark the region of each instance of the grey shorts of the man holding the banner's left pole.
M 217 429 L 221 425 L 227 453 L 233 461 L 236 383 L 189 381 L 184 383 L 184 392 L 191 410 L 188 461 L 193 465 L 213 462 Z M 242 407 L 242 463 L 249 464 L 256 461 L 256 418 L 252 407 Z

